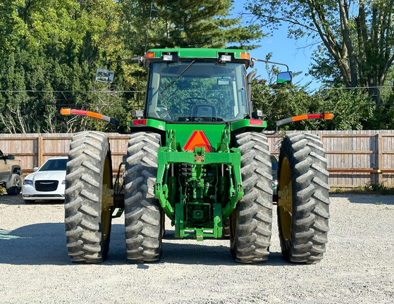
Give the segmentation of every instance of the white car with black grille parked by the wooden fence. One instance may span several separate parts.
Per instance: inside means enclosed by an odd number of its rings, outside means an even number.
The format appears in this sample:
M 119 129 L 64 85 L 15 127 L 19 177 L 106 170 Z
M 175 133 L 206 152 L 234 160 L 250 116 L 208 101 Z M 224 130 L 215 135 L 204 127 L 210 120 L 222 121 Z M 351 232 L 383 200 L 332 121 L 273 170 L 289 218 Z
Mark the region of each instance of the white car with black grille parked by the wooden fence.
M 35 167 L 35 172 L 25 177 L 22 186 L 25 203 L 34 203 L 36 200 L 64 200 L 67 160 L 67 156 L 49 158 L 44 165 Z

